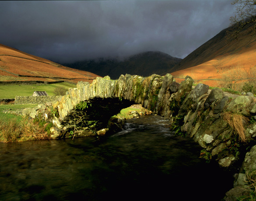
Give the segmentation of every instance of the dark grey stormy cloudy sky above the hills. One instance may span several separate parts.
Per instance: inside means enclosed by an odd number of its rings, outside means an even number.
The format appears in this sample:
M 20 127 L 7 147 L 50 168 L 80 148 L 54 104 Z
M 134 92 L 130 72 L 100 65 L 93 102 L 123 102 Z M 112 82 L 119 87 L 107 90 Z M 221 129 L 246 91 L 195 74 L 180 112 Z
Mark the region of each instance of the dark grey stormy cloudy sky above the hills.
M 59 63 L 147 51 L 183 59 L 230 26 L 231 2 L 0 1 L 0 44 Z

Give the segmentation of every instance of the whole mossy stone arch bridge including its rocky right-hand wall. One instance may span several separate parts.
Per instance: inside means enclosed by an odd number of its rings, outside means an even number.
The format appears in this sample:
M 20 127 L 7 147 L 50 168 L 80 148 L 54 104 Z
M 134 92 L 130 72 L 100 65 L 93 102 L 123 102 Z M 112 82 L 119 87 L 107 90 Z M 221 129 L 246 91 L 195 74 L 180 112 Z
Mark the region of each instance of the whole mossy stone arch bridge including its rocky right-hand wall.
M 256 117 L 256 97 L 231 98 L 219 88 L 209 90 L 205 84 L 193 87 L 189 76 L 179 84 L 171 74 L 149 77 L 126 74 L 118 80 L 106 76 L 97 77 L 91 84 L 77 83 L 77 88 L 69 89 L 52 105 L 58 115 L 51 120 L 54 125 L 51 137 L 67 138 L 73 132 L 76 137 L 104 134 L 109 118 L 132 104 L 141 104 L 169 119 L 175 134 L 193 138 L 204 150 L 202 157 L 215 157 L 224 167 L 238 161 L 240 149 L 256 142 L 255 121 L 242 122 L 245 126 L 242 136 L 226 118 Z

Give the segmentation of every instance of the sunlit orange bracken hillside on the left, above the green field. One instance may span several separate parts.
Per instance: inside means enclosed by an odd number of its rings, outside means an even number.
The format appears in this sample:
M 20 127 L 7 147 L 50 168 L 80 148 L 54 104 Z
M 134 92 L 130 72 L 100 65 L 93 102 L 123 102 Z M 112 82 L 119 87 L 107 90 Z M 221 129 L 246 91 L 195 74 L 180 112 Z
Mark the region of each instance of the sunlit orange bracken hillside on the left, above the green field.
M 55 62 L 0 44 L 0 81 L 92 82 L 94 73 L 62 66 Z

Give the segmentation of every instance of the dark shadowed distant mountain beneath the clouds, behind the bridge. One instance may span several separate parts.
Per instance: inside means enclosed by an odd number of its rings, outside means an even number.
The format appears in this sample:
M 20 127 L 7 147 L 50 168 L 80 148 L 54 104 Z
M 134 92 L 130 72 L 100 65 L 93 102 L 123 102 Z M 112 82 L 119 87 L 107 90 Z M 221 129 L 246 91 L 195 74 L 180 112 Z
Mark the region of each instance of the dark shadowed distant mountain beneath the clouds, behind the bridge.
M 162 74 L 181 60 L 163 52 L 142 52 L 132 55 L 124 61 L 93 59 L 63 65 L 90 71 L 100 76 L 109 75 L 112 79 L 118 79 L 121 74 L 125 75 L 126 73 L 140 76 L 150 76 L 154 73 Z

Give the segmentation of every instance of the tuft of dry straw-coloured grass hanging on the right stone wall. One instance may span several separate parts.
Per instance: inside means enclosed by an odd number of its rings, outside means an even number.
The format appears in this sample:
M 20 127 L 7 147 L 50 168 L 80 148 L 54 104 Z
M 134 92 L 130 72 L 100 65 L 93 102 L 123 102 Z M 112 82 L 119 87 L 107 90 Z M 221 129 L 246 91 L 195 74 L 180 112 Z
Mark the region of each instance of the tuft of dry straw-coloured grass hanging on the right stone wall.
M 244 124 L 247 123 L 249 120 L 247 117 L 243 116 L 242 114 L 236 114 L 232 112 L 225 112 L 223 114 L 223 119 L 228 123 L 228 125 L 235 131 L 239 139 L 242 142 L 245 142 L 245 126 Z

